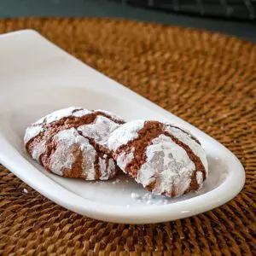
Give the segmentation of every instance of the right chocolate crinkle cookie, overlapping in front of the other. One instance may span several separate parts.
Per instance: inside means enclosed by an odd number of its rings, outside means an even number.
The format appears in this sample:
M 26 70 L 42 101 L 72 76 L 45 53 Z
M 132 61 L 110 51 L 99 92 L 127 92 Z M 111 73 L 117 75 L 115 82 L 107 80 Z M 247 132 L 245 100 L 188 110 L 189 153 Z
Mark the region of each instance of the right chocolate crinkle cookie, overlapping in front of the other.
M 108 139 L 117 165 L 156 195 L 175 197 L 201 189 L 207 155 L 188 131 L 159 121 L 134 120 Z

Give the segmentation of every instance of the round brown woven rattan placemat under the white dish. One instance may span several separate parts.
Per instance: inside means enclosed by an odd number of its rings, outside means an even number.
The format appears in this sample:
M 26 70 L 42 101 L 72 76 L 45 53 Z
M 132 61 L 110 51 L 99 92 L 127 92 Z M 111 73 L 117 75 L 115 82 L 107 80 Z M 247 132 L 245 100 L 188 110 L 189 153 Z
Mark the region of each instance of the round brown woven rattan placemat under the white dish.
M 111 224 L 59 207 L 0 166 L 0 254 L 253 255 L 256 45 L 135 21 L 0 20 L 0 32 L 28 27 L 224 143 L 247 180 L 234 200 L 192 218 Z

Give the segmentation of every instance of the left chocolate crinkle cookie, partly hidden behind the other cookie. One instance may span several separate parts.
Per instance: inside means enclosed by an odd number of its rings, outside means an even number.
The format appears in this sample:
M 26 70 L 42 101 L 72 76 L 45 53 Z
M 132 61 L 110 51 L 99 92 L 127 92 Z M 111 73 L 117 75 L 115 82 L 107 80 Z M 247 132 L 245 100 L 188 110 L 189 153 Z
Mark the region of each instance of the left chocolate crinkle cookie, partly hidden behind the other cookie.
M 26 129 L 26 152 L 63 177 L 108 180 L 118 171 L 108 137 L 121 124 L 123 119 L 104 110 L 64 108 Z

